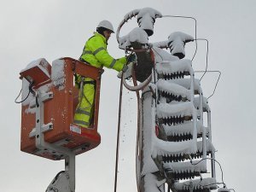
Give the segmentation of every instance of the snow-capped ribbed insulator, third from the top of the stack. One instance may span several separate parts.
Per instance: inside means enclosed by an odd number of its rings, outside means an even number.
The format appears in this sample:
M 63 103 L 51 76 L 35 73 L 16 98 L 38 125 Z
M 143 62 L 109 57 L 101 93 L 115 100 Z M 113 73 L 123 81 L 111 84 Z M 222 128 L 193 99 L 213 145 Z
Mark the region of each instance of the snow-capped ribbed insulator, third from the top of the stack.
M 160 123 L 165 125 L 177 125 L 184 120 L 192 119 L 196 114 L 196 109 L 192 102 L 181 102 L 176 104 L 160 103 L 157 106 L 157 117 Z

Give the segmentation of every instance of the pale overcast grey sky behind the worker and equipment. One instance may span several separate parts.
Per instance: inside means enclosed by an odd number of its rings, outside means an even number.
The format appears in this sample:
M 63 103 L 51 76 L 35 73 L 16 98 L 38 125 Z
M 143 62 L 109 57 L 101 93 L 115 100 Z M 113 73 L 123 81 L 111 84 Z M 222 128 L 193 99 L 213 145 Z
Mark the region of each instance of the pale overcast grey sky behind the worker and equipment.
M 132 9 L 151 7 L 163 15 L 193 16 L 197 20 L 198 38 L 207 38 L 209 69 L 220 70 L 222 77 L 210 99 L 212 141 L 217 160 L 223 166 L 224 182 L 238 191 L 253 191 L 256 150 L 255 114 L 255 23 L 253 0 L 174 1 L 174 0 L 0 0 L 0 107 L 1 174 L 3 192 L 44 191 L 63 161 L 52 161 L 20 152 L 20 105 L 15 96 L 20 91 L 20 70 L 35 59 L 51 62 L 61 56 L 78 58 L 87 38 L 100 20 L 113 22 L 115 29 Z M 133 25 L 133 26 L 132 26 Z M 135 27 L 135 21 L 126 31 Z M 171 32 L 183 31 L 195 36 L 192 20 L 156 20 L 155 36 L 149 40 L 166 40 Z M 191 58 L 193 46 L 189 46 Z M 109 53 L 124 55 L 115 37 L 109 40 Z M 193 66 L 205 66 L 206 44 L 199 43 Z M 216 76 L 202 82 L 209 96 Z M 111 91 L 109 91 L 111 90 Z M 113 191 L 115 137 L 117 129 L 119 79 L 106 70 L 102 78 L 99 131 L 101 145 L 77 156 L 76 191 Z M 121 135 L 119 190 L 135 191 L 134 146 L 136 133 L 136 96 L 125 90 Z M 220 172 L 217 168 L 218 173 Z M 220 175 L 218 174 L 218 181 Z

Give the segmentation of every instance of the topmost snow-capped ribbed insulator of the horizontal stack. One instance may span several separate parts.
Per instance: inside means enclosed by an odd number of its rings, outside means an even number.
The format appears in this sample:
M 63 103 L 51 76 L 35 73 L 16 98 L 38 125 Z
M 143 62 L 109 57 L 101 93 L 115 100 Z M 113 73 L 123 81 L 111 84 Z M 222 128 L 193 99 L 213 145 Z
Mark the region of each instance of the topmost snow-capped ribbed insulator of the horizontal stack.
M 156 72 L 160 79 L 183 79 L 185 75 L 193 73 L 190 60 L 162 61 L 156 63 Z

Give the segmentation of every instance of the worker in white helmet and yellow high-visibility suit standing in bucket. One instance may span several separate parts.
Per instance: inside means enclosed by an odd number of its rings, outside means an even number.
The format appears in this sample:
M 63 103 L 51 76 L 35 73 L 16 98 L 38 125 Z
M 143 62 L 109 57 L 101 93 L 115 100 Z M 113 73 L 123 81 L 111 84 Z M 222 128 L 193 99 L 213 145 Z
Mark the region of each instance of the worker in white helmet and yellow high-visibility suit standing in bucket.
M 79 60 L 94 67 L 108 67 L 118 72 L 125 72 L 128 69 L 126 57 L 114 59 L 108 54 L 108 38 L 112 33 L 113 25 L 108 20 L 102 20 L 96 27 L 94 35 L 85 43 Z M 134 59 L 129 57 L 129 61 Z M 74 115 L 74 124 L 90 129 L 93 128 L 90 125 L 94 114 L 96 81 L 81 76 L 77 76 L 75 79 L 76 85 L 79 87 L 79 105 Z

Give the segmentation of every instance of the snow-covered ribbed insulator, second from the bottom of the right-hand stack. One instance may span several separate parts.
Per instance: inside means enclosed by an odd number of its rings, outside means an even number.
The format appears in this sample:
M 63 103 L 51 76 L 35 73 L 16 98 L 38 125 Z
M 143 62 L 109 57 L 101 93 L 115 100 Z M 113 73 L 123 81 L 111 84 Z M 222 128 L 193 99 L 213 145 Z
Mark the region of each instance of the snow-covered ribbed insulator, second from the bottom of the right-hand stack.
M 177 179 L 189 179 L 196 176 L 200 176 L 201 173 L 207 172 L 207 161 L 206 160 L 194 160 L 186 162 L 172 162 L 164 163 L 164 169 L 167 174 Z

